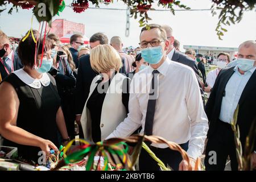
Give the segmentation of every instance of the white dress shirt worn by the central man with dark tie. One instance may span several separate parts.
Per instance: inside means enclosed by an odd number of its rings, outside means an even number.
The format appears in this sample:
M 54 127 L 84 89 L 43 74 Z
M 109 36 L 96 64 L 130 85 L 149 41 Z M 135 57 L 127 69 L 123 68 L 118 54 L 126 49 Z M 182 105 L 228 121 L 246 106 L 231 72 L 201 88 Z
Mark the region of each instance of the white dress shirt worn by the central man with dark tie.
M 134 75 L 131 81 L 129 114 L 108 138 L 128 137 L 144 124 L 150 92 L 152 69 L 150 66 Z M 189 140 L 188 155 L 196 159 L 204 150 L 208 119 L 195 72 L 187 65 L 166 59 L 157 69 L 159 94 L 156 100 L 152 135 L 178 144 Z M 151 144 L 159 148 L 166 144 Z

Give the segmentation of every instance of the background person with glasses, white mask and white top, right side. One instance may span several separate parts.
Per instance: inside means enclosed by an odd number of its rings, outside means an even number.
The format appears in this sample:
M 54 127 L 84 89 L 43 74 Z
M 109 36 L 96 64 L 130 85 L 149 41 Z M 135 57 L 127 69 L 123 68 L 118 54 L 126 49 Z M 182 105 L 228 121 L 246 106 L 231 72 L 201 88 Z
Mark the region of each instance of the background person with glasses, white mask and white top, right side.
M 225 68 L 227 64 L 230 63 L 230 55 L 226 52 L 221 52 L 218 54 L 217 68 L 210 71 L 207 75 L 206 82 L 208 86 L 205 86 L 204 91 L 210 93 L 221 69 Z

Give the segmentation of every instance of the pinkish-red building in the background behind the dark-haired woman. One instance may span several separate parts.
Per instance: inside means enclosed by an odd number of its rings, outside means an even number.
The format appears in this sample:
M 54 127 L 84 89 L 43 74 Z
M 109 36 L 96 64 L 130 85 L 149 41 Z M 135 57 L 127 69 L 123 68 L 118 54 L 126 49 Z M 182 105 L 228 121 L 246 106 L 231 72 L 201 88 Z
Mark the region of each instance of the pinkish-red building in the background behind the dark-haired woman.
M 56 34 L 59 38 L 67 34 L 85 34 L 85 26 L 82 23 L 75 23 L 66 19 L 55 19 L 52 22 L 50 33 Z

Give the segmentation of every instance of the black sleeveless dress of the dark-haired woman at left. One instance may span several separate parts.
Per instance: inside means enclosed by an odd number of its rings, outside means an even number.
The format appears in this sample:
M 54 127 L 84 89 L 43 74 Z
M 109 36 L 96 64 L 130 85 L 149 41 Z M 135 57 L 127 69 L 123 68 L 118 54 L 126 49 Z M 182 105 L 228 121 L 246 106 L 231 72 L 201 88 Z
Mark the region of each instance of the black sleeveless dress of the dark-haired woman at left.
M 47 73 L 48 74 L 48 73 Z M 39 89 L 25 84 L 18 76 L 11 73 L 5 80 L 16 90 L 19 98 L 19 110 L 16 126 L 38 136 L 48 139 L 57 147 L 56 113 L 60 107 L 60 97 L 57 93 L 55 79 L 49 75 L 50 84 Z M 40 147 L 24 146 L 4 138 L 4 146 L 18 147 L 18 156 L 22 159 L 38 163 Z

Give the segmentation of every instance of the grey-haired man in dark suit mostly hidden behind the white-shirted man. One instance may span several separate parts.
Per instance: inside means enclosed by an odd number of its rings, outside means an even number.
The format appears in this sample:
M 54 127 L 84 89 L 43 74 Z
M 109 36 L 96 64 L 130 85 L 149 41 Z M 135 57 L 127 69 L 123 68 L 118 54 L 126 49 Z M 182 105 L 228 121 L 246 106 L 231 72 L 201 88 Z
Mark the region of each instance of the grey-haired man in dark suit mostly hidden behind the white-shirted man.
M 193 69 L 193 71 L 195 71 L 196 77 L 197 77 L 197 80 L 198 80 L 199 86 L 200 86 L 201 96 L 202 96 L 203 101 L 204 101 L 204 92 L 203 92 L 203 89 L 202 89 L 204 84 L 203 84 L 203 82 L 200 81 L 199 71 L 198 71 L 196 62 L 193 59 L 191 59 L 190 57 L 184 55 L 184 53 L 181 53 L 181 52 L 179 52 L 175 49 L 175 47 L 174 47 L 175 39 L 174 39 L 174 36 L 172 34 L 172 28 L 168 25 L 163 25 L 162 27 L 166 31 L 167 40 L 169 40 L 169 42 L 170 42 L 170 47 L 168 48 L 168 50 L 166 52 L 168 58 L 172 61 L 176 61 L 178 63 L 185 64 L 185 65 L 191 67 Z

